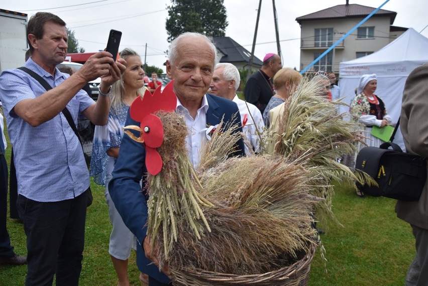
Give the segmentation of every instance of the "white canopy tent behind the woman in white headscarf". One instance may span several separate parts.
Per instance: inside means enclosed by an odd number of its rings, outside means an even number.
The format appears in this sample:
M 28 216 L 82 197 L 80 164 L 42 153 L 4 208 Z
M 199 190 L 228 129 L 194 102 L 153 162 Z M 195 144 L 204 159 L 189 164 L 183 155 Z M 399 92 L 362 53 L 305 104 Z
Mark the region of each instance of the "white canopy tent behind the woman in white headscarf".
M 384 101 L 386 110 L 393 122 L 398 120 L 401 110 L 401 98 L 404 84 L 409 73 L 428 62 L 428 39 L 409 28 L 400 37 L 379 51 L 368 56 L 342 62 L 339 65 L 340 96 L 343 101 L 351 103 L 355 97 L 363 74 L 377 75 L 376 95 Z M 347 111 L 341 106 L 340 111 Z M 403 147 L 401 133 L 397 136 L 397 144 Z M 396 140 L 394 140 L 395 142 Z

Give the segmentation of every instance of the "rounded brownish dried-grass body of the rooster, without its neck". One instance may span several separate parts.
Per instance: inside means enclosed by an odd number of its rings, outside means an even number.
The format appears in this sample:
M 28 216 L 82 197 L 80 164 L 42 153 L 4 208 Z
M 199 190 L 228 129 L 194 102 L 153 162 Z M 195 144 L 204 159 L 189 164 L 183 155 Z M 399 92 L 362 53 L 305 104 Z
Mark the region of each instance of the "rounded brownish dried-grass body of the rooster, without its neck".
M 245 168 L 257 176 L 247 176 Z M 201 195 L 216 202 L 204 211 L 211 232 L 195 240 L 186 235 L 188 229 L 179 231 L 176 255 L 169 259 L 172 269 L 265 273 L 307 253 L 314 243 L 310 210 L 317 199 L 308 194 L 301 166 L 264 157 L 234 158 L 207 173 L 200 182 Z

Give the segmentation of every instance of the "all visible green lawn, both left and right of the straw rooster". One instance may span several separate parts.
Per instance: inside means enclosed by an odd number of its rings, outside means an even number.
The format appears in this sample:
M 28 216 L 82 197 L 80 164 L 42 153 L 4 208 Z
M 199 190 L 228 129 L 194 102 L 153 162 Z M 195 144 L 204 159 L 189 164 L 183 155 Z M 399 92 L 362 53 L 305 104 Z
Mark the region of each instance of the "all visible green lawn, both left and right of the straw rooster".
M 10 149 L 6 157 L 10 163 Z M 88 208 L 86 243 L 80 285 L 116 285 L 109 248 L 111 224 L 104 189 L 91 181 L 94 197 Z M 403 285 L 414 255 L 410 226 L 396 218 L 395 201 L 387 198 L 359 198 L 350 186 L 336 184 L 333 211 L 343 226 L 332 225 L 322 240 L 325 262 L 319 251 L 311 264 L 309 285 Z M 23 224 L 8 219 L 12 245 L 26 253 Z M 318 225 L 324 229 L 325 226 Z M 0 285 L 24 285 L 27 266 L 0 266 Z M 135 254 L 130 258 L 132 285 L 140 285 Z

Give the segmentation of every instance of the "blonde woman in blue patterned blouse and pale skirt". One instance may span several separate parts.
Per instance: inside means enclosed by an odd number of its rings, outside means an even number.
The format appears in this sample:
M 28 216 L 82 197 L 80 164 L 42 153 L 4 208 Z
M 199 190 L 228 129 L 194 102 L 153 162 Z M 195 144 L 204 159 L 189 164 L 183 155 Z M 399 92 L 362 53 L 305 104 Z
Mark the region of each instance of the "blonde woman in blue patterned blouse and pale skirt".
M 144 94 L 143 64 L 140 56 L 131 49 L 124 49 L 120 57 L 127 61 L 121 80 L 112 85 L 109 121 L 104 126 L 95 126 L 90 175 L 94 182 L 105 186 L 104 196 L 109 206 L 110 221 L 113 225 L 110 235 L 109 253 L 119 278 L 119 286 L 128 286 L 128 258 L 131 248 L 136 249 L 136 238 L 125 226 L 109 194 L 109 182 L 119 156 L 124 135 L 129 106 L 134 99 Z M 144 274 L 140 275 L 144 279 Z

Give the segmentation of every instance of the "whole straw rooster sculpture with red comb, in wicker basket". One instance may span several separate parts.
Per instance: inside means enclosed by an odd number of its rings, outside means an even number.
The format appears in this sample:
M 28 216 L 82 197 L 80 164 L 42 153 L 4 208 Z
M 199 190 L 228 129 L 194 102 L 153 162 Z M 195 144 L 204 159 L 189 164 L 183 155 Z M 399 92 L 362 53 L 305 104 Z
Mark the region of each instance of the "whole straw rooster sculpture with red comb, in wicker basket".
M 187 155 L 184 118 L 171 112 L 176 105 L 172 84 L 162 93 L 157 89 L 153 95 L 146 92 L 143 99 L 137 98 L 130 114 L 141 125 L 125 127 L 140 131 L 139 137 L 126 133 L 146 147 L 147 235 L 159 250 L 160 266 L 169 264 L 174 281 L 185 276 L 186 269 L 248 275 L 274 271 L 300 259 L 317 243 L 313 209 L 330 196 L 326 176 L 356 179 L 349 170 L 325 167 L 345 144 L 338 151 L 337 139 L 326 139 L 333 149 L 329 154 L 329 148 L 321 146 L 324 141 L 316 142 L 314 136 L 308 139 L 311 147 L 304 150 L 288 146 L 287 137 L 281 135 L 275 155 L 229 158 L 241 134 L 235 132 L 238 126 L 222 123 L 210 134 L 195 170 Z M 298 92 L 314 88 L 306 86 Z M 296 95 L 294 101 L 299 100 Z M 291 122 L 287 116 L 293 110 L 303 112 L 292 104 L 300 106 L 290 101 L 283 121 Z M 301 134 L 293 136 L 301 137 L 303 128 L 319 129 L 319 125 L 310 127 L 310 120 L 332 120 L 333 124 L 337 119 L 309 113 L 303 115 L 306 125 L 300 127 Z M 345 149 L 352 149 L 349 145 L 361 137 L 352 122 L 346 124 L 336 128 L 335 134 L 321 137 L 346 133 Z M 321 132 L 318 129 L 315 132 Z M 344 136 L 338 139 L 344 141 Z M 319 183 L 324 184 L 323 191 Z

